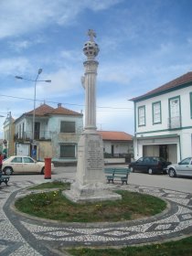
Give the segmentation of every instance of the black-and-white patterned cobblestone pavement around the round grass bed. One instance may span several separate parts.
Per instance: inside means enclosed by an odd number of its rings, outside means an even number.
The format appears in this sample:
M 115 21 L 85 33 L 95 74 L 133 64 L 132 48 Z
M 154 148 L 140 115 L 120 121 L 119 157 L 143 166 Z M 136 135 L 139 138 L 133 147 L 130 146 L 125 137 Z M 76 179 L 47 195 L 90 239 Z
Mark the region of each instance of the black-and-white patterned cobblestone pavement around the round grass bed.
M 163 214 L 149 219 L 120 223 L 60 223 L 27 218 L 17 214 L 11 204 L 26 194 L 25 187 L 36 182 L 9 182 L 0 186 L 0 255 L 65 255 L 59 247 L 124 246 L 161 242 L 192 234 L 192 195 L 184 192 L 135 185 L 111 185 L 162 197 L 168 201 Z

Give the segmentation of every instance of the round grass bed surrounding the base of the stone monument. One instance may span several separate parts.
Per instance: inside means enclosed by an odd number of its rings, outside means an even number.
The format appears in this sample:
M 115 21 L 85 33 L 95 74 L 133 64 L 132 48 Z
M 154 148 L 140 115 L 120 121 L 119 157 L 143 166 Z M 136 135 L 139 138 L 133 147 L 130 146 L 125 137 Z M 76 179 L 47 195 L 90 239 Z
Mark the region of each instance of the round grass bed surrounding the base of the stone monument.
M 69 184 L 64 184 L 59 190 L 19 198 L 16 200 L 16 208 L 45 219 L 67 222 L 103 222 L 149 217 L 162 212 L 166 207 L 165 201 L 160 198 L 125 190 L 116 191 L 122 195 L 122 200 L 76 204 L 62 196 L 61 191 L 69 187 Z M 51 186 L 51 183 L 41 186 L 40 189 L 48 188 L 47 186 Z

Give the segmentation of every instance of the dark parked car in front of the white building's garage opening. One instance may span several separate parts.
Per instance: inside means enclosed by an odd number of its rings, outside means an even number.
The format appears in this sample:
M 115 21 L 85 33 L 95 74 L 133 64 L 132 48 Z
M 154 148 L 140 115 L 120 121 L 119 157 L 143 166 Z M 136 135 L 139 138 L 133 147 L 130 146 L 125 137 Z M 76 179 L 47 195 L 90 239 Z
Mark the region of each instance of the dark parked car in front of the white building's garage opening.
M 131 171 L 140 171 L 148 173 L 149 175 L 164 173 L 166 174 L 167 165 L 171 165 L 171 162 L 165 161 L 163 157 L 158 156 L 144 156 L 138 160 L 132 162 L 129 167 Z

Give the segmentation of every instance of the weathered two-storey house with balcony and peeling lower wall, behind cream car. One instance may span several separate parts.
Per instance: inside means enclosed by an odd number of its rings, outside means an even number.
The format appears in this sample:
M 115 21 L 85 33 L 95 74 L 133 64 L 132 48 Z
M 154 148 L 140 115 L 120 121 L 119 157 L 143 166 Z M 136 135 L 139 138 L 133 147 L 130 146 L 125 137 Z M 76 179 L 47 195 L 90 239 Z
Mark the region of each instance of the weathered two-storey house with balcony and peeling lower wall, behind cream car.
M 23 113 L 15 121 L 16 155 L 31 155 L 43 161 L 77 161 L 77 145 L 83 129 L 83 115 L 63 108 L 42 104 L 34 112 Z M 32 138 L 34 137 L 34 141 Z

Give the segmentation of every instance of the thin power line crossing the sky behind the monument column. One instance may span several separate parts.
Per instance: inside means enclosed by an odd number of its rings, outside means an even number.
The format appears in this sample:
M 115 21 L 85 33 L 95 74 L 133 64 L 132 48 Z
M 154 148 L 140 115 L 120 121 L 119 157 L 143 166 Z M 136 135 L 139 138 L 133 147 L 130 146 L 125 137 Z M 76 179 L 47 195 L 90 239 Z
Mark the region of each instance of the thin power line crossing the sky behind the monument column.
M 34 99 L 31 99 L 31 98 L 17 97 L 17 96 L 5 95 L 5 94 L 0 94 L 0 96 L 6 97 L 6 98 L 19 99 L 19 100 L 34 101 Z M 45 100 L 36 100 L 36 101 L 45 102 Z M 53 103 L 53 104 L 59 104 L 60 103 L 60 102 L 56 102 L 56 101 L 46 101 L 46 102 Z M 85 105 L 74 104 L 74 103 L 63 103 L 63 102 L 61 102 L 61 103 L 63 105 L 71 105 L 71 106 L 79 106 L 79 107 L 84 107 L 85 106 Z M 117 107 L 100 107 L 100 106 L 98 106 L 97 108 L 112 109 L 112 110 L 133 110 L 133 108 L 125 108 L 125 107 L 117 108 Z

